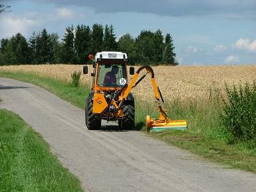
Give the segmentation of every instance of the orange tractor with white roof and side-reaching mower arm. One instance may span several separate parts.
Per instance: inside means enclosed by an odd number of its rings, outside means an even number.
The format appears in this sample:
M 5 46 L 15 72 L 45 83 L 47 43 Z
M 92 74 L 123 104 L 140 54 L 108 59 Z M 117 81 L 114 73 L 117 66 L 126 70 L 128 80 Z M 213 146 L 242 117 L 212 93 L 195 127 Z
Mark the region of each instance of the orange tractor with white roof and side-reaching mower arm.
M 148 131 L 163 131 L 166 129 L 186 129 L 186 120 L 170 120 L 166 109 L 161 106 L 164 102 L 160 89 L 157 86 L 153 69 L 148 66 L 138 68 L 134 74 L 134 67 L 129 68 L 131 80 L 127 76 L 127 54 L 124 52 L 97 52 L 93 60 L 92 90 L 86 99 L 85 121 L 90 130 L 101 127 L 101 120 L 118 121 L 120 129 L 134 129 L 134 97 L 131 90 L 140 81 L 150 74 L 160 116 L 157 119 L 147 116 Z M 142 70 L 146 74 L 138 79 Z M 88 74 L 88 67 L 83 67 L 83 74 Z M 137 81 L 138 79 L 138 81 Z M 129 81 L 128 81 L 129 80 Z

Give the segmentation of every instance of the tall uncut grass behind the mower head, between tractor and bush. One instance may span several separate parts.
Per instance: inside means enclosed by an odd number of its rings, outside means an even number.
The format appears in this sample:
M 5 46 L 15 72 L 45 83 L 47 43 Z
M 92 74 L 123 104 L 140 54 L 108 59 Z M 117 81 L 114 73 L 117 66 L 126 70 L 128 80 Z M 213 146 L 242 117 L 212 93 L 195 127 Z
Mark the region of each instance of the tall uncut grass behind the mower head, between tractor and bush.
M 159 111 L 154 101 L 141 102 L 136 100 L 136 122 L 138 128 L 145 122 L 146 115 L 158 118 Z M 166 100 L 163 108 L 168 110 L 168 117 L 171 120 L 187 120 L 188 131 L 204 134 L 211 138 L 225 138 L 225 128 L 221 124 L 220 114 L 223 111 L 220 90 L 212 88 L 209 97 L 206 99 L 193 97 L 188 99 Z M 144 124 L 145 125 L 145 124 Z

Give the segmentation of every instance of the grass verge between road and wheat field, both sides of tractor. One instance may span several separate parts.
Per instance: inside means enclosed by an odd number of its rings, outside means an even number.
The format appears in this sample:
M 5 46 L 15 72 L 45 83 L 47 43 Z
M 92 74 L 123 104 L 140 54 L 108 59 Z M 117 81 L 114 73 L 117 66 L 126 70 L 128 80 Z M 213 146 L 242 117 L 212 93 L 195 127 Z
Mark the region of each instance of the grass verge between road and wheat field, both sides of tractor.
M 38 77 L 23 72 L 0 72 L 0 76 L 19 79 L 42 86 L 62 99 L 72 102 L 79 108 L 84 108 L 84 99 L 89 88 L 79 86 L 74 88 L 51 78 Z M 145 117 L 158 117 L 157 108 L 152 104 L 136 100 L 136 129 L 145 130 Z M 150 136 L 164 140 L 167 143 L 184 148 L 213 162 L 227 164 L 232 168 L 240 168 L 256 173 L 256 149 L 250 143 L 228 144 L 228 134 L 220 123 L 221 103 L 218 92 L 205 100 L 188 99 L 174 100 L 166 104 L 172 119 L 186 119 L 187 131 L 165 131 L 150 133 Z

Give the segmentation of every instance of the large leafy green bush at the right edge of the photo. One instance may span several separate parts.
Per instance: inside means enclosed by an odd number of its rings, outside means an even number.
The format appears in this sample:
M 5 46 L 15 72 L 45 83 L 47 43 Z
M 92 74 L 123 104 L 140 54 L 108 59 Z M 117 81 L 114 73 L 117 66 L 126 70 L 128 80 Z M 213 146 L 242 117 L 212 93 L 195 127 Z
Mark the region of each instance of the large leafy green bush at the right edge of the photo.
M 227 98 L 223 99 L 221 120 L 227 131 L 234 139 L 256 140 L 256 83 L 225 87 Z

